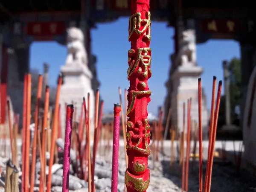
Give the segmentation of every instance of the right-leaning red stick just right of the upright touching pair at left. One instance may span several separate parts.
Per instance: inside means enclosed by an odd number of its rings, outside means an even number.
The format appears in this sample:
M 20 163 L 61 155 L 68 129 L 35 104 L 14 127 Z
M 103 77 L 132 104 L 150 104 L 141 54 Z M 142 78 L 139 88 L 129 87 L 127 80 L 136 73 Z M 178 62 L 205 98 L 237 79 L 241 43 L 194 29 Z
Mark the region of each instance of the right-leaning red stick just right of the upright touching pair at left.
M 35 103 L 35 132 L 34 132 L 34 140 L 33 140 L 33 148 L 32 148 L 32 163 L 31 163 L 31 179 L 30 179 L 30 192 L 34 192 L 34 184 L 35 184 L 35 160 L 36 160 L 36 146 L 37 146 L 37 131 L 38 131 L 38 114 L 41 103 L 41 95 L 42 95 L 42 86 L 43 86 L 43 76 L 38 76 L 38 91 Z

